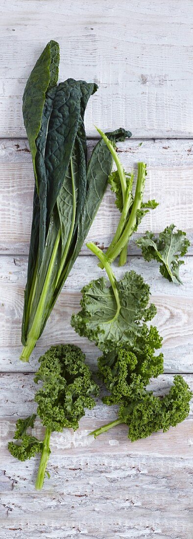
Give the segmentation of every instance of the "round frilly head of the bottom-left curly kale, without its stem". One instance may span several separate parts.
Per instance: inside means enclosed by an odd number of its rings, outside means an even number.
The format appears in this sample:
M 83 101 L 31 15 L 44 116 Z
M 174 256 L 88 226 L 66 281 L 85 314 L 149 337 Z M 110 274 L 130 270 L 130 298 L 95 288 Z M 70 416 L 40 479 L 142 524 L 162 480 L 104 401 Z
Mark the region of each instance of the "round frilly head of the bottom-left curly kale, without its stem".
M 95 405 L 91 395 L 98 395 L 98 386 L 85 364 L 85 354 L 72 344 L 52 346 L 39 358 L 35 382 L 43 382 L 35 396 L 37 413 L 43 425 L 52 431 L 64 427 L 78 429 L 85 408 Z

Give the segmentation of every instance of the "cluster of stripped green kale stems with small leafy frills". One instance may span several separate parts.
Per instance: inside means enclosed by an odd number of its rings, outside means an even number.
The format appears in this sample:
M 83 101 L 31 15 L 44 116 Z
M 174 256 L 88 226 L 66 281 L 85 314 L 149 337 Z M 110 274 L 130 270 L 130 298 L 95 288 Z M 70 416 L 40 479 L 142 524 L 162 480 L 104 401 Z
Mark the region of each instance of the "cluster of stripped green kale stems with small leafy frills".
M 119 160 L 118 154 L 116 153 L 115 145 L 108 140 L 107 136 L 101 131 L 101 129 L 96 129 L 100 133 L 109 151 L 111 151 L 117 167 L 117 170 L 112 172 L 112 174 L 109 176 L 109 183 L 112 191 L 115 192 L 116 195 L 115 204 L 121 212 L 118 227 L 111 244 L 106 251 L 106 256 L 109 264 L 111 264 L 113 260 L 115 260 L 115 258 L 120 254 L 119 265 L 123 266 L 126 264 L 127 260 L 127 245 L 130 237 L 134 232 L 136 232 L 143 216 L 146 215 L 150 209 L 156 208 L 158 203 L 155 200 L 143 203 L 143 191 L 147 175 L 146 164 L 138 163 L 135 196 L 133 196 L 133 172 L 131 174 L 127 174 L 125 172 Z M 104 265 L 101 262 L 99 266 L 104 268 Z

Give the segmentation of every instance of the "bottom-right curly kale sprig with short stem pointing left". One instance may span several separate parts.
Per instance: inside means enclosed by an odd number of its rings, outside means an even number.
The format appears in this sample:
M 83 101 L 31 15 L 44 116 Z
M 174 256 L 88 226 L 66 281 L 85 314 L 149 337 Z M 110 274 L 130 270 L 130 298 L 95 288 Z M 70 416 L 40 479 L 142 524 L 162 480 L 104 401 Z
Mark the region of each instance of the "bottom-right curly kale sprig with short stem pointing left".
M 192 392 L 182 376 L 174 377 L 174 385 L 171 386 L 168 395 L 155 397 L 152 391 L 140 395 L 136 392 L 136 400 L 126 400 L 120 405 L 118 417 L 91 432 L 99 436 L 112 427 L 125 423 L 128 425 L 128 438 L 131 441 L 147 438 L 153 432 L 168 431 L 170 426 L 175 427 L 188 416 L 190 411 L 190 399 Z

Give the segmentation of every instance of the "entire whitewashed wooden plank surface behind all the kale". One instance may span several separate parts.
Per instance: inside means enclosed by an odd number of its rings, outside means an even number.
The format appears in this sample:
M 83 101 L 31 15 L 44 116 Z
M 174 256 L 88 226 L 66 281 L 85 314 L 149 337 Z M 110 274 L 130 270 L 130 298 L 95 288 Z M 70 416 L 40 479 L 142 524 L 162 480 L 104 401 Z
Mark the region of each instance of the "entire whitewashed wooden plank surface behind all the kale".
M 94 123 L 102 129 L 121 125 L 133 132 L 133 140 L 119 144 L 126 170 L 147 162 L 146 195 L 160 206 L 139 233 L 148 227 L 159 232 L 174 222 L 192 241 L 192 11 L 191 0 L 0 0 L 1 539 L 192 537 L 192 410 L 166 434 L 130 443 L 121 425 L 94 440 L 87 433 L 116 417 L 115 407 L 98 399 L 77 432 L 52 435 L 51 478 L 41 493 L 34 488 L 38 458 L 19 462 L 6 449 L 17 418 L 35 410 L 33 372 L 42 351 L 52 343 L 75 342 L 94 368 L 97 357 L 70 326 L 80 288 L 100 275 L 84 246 L 30 363 L 18 361 L 33 196 L 22 120 L 26 79 L 46 43 L 58 40 L 60 80 L 84 78 L 99 85 L 86 114 L 89 150 Z M 107 191 L 89 239 L 106 247 L 117 222 Z M 183 286 L 164 280 L 155 262 L 144 262 L 134 241 L 128 264 L 149 282 L 157 306 L 165 358 L 157 391 L 168 389 L 175 372 L 193 387 L 192 245 L 181 271 Z M 115 266 L 118 277 L 123 271 Z M 40 424 L 36 434 L 43 436 Z

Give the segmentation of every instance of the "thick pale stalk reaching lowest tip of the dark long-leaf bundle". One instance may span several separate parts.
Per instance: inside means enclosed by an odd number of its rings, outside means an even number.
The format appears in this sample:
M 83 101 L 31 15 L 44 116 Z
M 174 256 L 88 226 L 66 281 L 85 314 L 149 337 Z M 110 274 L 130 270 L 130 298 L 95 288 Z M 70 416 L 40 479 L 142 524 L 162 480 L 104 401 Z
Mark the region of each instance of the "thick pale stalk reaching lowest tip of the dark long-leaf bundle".
M 59 229 L 58 234 L 57 234 L 56 243 L 55 243 L 53 251 L 52 251 L 50 264 L 49 264 L 49 267 L 47 269 L 47 274 L 46 274 L 46 278 L 45 278 L 45 281 L 44 281 L 44 286 L 43 286 L 43 289 L 42 289 L 42 293 L 40 295 L 38 307 L 36 309 L 36 314 L 34 316 L 34 319 L 33 319 L 32 326 L 30 328 L 29 334 L 27 335 L 26 345 L 24 346 L 23 351 L 22 351 L 22 355 L 20 356 L 20 360 L 22 360 L 22 361 L 29 361 L 29 357 L 30 357 L 30 355 L 31 355 L 31 353 L 33 351 L 33 348 L 36 345 L 36 342 L 37 342 L 38 338 L 39 338 L 39 333 L 40 333 L 40 329 L 41 329 L 41 326 L 42 326 L 42 317 L 43 317 L 43 314 L 44 314 L 44 306 L 45 306 L 45 301 L 46 301 L 46 295 L 47 295 L 47 292 L 48 292 L 49 286 L 50 286 L 50 279 L 51 279 L 51 275 L 52 275 L 52 271 L 53 271 L 54 262 L 56 260 L 58 246 L 59 246 L 59 243 L 60 243 L 60 237 L 61 237 L 61 229 Z

